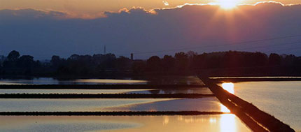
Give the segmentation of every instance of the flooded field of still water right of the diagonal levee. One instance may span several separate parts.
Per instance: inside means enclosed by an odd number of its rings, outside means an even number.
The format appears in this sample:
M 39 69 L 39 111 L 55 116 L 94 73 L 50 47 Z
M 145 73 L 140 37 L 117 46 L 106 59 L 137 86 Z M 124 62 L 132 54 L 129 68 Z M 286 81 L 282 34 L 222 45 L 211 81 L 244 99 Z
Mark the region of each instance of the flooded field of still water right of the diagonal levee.
M 234 93 L 301 131 L 301 81 L 237 82 Z

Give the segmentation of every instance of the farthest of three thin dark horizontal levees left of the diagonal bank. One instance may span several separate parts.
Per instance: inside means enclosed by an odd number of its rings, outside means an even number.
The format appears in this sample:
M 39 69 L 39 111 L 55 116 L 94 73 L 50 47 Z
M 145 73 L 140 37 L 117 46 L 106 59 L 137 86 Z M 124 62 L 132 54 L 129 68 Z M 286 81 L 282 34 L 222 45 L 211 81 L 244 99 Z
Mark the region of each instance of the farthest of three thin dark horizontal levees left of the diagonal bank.
M 0 89 L 185 89 L 204 85 L 0 85 Z

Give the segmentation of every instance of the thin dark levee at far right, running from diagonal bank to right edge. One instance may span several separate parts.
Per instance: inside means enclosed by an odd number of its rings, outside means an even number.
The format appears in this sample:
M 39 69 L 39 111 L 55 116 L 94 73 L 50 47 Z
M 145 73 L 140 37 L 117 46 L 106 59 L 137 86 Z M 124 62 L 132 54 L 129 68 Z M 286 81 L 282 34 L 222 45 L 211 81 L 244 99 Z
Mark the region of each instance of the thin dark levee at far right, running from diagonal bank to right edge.
M 213 82 L 260 82 L 260 81 L 301 81 L 301 78 L 214 78 Z

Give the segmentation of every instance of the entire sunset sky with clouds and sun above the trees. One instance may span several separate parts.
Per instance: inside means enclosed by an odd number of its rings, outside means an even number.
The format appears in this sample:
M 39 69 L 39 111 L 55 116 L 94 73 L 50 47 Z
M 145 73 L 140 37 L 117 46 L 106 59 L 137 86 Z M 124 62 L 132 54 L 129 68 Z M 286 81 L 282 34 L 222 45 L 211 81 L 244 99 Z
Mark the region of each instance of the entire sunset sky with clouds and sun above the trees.
M 301 55 L 301 1 L 258 2 L 0 0 L 0 55 L 49 59 L 102 53 L 104 45 L 136 59 L 189 50 Z M 241 43 L 248 41 L 255 43 Z

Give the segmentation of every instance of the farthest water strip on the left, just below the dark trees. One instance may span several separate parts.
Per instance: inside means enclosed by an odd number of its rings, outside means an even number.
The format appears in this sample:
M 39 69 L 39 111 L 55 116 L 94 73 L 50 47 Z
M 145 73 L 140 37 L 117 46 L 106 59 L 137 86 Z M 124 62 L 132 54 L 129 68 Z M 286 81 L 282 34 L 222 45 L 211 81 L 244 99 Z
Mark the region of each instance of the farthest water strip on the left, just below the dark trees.
M 73 79 L 55 78 L 1 79 L 0 85 L 204 85 L 196 76 L 160 76 L 149 78 L 121 79 Z

